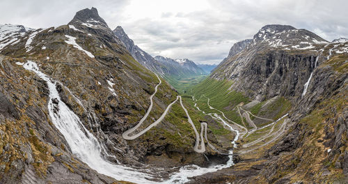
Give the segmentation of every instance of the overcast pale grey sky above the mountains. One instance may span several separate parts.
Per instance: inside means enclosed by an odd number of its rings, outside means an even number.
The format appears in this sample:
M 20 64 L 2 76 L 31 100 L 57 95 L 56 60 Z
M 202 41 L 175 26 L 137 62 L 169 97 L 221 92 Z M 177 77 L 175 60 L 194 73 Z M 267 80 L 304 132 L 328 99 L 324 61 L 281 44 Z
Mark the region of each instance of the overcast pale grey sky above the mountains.
M 59 26 L 97 8 L 152 56 L 219 63 L 233 43 L 266 24 L 308 29 L 326 40 L 348 37 L 347 0 L 1 0 L 0 24 Z

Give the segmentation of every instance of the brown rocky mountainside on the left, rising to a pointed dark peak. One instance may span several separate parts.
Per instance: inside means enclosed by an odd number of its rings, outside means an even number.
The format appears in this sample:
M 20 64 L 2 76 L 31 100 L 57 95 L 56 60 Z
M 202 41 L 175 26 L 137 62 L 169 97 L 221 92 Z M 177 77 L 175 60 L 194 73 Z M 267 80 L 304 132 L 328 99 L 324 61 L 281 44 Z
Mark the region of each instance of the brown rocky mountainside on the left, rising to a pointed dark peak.
M 158 164 L 148 160 L 156 155 L 170 163 L 168 166 L 208 164 L 203 155 L 192 150 L 193 136 L 178 139 L 173 134 L 188 134 L 175 124 L 186 125 L 187 118 L 180 112 L 139 139 L 122 139 L 122 132 L 145 114 L 158 79 L 134 60 L 97 9 L 77 12 L 68 25 L 13 27 L 5 36 L 0 33 L 1 39 L 6 37 L 6 45 L 0 49 L 0 183 L 118 183 L 72 155 L 48 115 L 47 83 L 22 67 L 26 61 L 37 63 L 41 72 L 57 82 L 61 100 L 97 137 L 106 160 L 143 167 L 143 162 Z M 10 39 L 19 41 L 7 42 Z M 176 95 L 162 81 L 154 97 L 154 110 L 144 125 L 159 118 Z M 197 123 L 199 119 L 196 116 Z M 209 136 L 214 137 L 212 132 Z

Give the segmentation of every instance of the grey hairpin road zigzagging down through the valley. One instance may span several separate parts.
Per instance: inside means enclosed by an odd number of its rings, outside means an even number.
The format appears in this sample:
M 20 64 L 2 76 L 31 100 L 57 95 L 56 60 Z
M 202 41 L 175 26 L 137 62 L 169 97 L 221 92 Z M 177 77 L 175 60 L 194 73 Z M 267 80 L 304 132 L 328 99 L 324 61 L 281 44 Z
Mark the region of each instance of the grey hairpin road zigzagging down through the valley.
M 156 75 L 156 74 L 155 74 Z M 145 132 L 148 132 L 148 130 L 150 130 L 151 128 L 153 128 L 154 126 L 156 126 L 158 123 L 160 123 L 166 116 L 166 114 L 168 114 L 168 111 L 169 109 L 171 109 L 171 107 L 173 106 L 173 104 L 175 104 L 175 102 L 177 102 L 177 100 L 180 100 L 180 105 L 182 107 L 182 109 L 184 109 L 184 112 L 186 113 L 187 115 L 187 118 L 188 118 L 188 121 L 189 123 L 191 124 L 192 128 L 193 128 L 193 131 L 195 132 L 195 135 L 196 135 L 196 141 L 195 141 L 195 144 L 193 146 L 193 151 L 196 151 L 197 153 L 204 153 L 206 151 L 205 149 L 205 141 L 207 141 L 207 146 L 209 146 L 210 148 L 212 148 L 212 150 L 216 151 L 217 153 L 220 153 L 220 154 L 223 154 L 223 155 L 228 155 L 226 153 L 221 153 L 220 151 L 218 151 L 212 144 L 209 143 L 209 140 L 208 140 L 208 137 L 207 137 L 207 123 L 203 122 L 203 123 L 200 123 L 200 133 L 198 133 L 198 130 L 196 129 L 196 126 L 194 125 L 191 117 L 189 116 L 189 112 L 187 111 L 187 109 L 184 107 L 183 103 L 182 103 L 182 97 L 180 95 L 177 95 L 177 98 L 171 102 L 171 104 L 169 104 L 165 111 L 161 114 L 161 116 L 154 122 L 154 123 L 151 123 L 150 125 L 148 125 L 148 127 L 146 127 L 145 129 L 141 130 L 140 132 L 134 134 L 134 135 L 131 135 L 134 131 L 136 131 L 143 123 L 143 121 L 145 121 L 146 118 L 148 118 L 148 115 L 150 114 L 151 110 L 152 110 L 152 107 L 153 107 L 153 97 L 155 96 L 155 94 L 157 93 L 157 89 L 158 89 L 158 86 L 161 84 L 161 79 L 158 77 L 158 75 L 156 75 L 156 77 L 159 79 L 159 84 L 157 84 L 155 86 L 155 93 L 153 93 L 152 95 L 150 95 L 150 107 L 148 108 L 148 111 L 145 113 L 145 115 L 143 116 L 143 118 L 141 118 L 141 120 L 139 121 L 138 124 L 136 124 L 133 128 L 130 128 L 129 130 L 126 130 L 125 132 L 123 132 L 122 134 L 122 137 L 123 139 L 126 139 L 126 140 L 133 140 L 133 139 L 136 139 L 138 137 L 140 137 L 141 135 L 145 134 Z M 204 95 L 205 97 L 205 95 Z M 201 98 L 202 98 L 202 95 L 201 95 Z M 207 97 L 205 97 L 207 98 Z M 255 123 L 253 123 L 253 121 L 251 120 L 250 118 L 250 115 L 251 116 L 255 116 L 254 114 L 252 114 L 251 112 L 248 112 L 244 109 L 242 109 L 242 107 L 239 107 L 239 105 L 237 105 L 237 109 L 238 109 L 238 112 L 239 112 L 239 116 L 241 116 L 241 118 L 246 118 L 246 121 L 248 122 L 249 125 L 251 125 L 253 127 L 253 130 L 249 131 L 248 132 L 248 129 L 242 125 L 239 125 L 237 123 L 235 123 L 234 121 L 231 121 L 230 119 L 228 119 L 225 114 L 223 112 L 221 112 L 219 109 L 216 109 L 214 107 L 212 107 L 211 105 L 209 105 L 209 98 L 207 98 L 207 105 L 209 106 L 209 109 L 214 109 L 218 112 L 220 112 L 223 116 L 223 118 L 225 118 L 226 120 L 230 121 L 231 123 L 233 123 L 233 125 L 237 126 L 237 129 L 239 130 L 244 130 L 244 133 L 242 133 L 242 136 L 241 138 L 243 137 L 243 135 L 246 135 L 246 137 L 248 137 L 248 135 L 251 135 L 251 133 L 255 132 L 256 130 L 258 130 L 258 127 L 255 125 Z M 197 101 L 196 98 L 194 98 L 194 96 L 192 96 L 192 100 L 193 101 Z M 195 107 L 196 107 L 197 104 L 195 104 Z M 198 107 L 196 107 L 198 110 L 200 110 Z M 240 110 L 243 110 L 243 115 L 241 114 Z M 201 111 L 201 110 L 200 110 Z M 201 111 L 202 112 L 202 111 Z M 206 114 L 205 112 L 203 112 L 204 114 Z M 212 116 L 212 118 L 215 118 L 215 119 L 218 119 L 220 120 L 221 122 L 223 122 L 223 125 L 224 127 L 225 126 L 228 126 L 228 128 L 231 130 L 231 131 L 235 131 L 237 133 L 237 136 L 235 137 L 234 141 L 232 141 L 232 143 L 235 145 L 235 141 L 237 141 L 237 139 L 239 138 L 239 131 L 238 130 L 235 130 L 232 128 L 232 126 L 230 124 L 228 124 L 226 121 L 223 121 L 223 118 L 221 118 L 221 116 L 219 116 L 218 114 L 214 114 L 213 116 L 213 113 L 209 113 L 207 114 L 209 116 Z M 285 115 L 287 116 L 287 114 Z M 285 117 L 283 116 L 283 117 Z M 268 119 L 268 118 L 262 118 L 262 117 L 259 117 L 259 116 L 255 116 L 256 118 L 261 118 L 261 119 L 264 119 L 264 120 L 267 120 L 267 121 L 273 121 L 271 119 Z M 282 117 L 282 118 L 283 118 Z M 243 120 L 242 120 L 243 121 Z M 267 139 L 269 137 L 272 137 L 272 139 L 270 139 L 269 141 L 267 141 L 266 143 L 262 144 L 261 146 L 258 146 L 256 148 L 251 148 L 250 150 L 247 150 L 247 151 L 241 151 L 240 153 L 248 153 L 250 151 L 253 151 L 255 149 L 258 149 L 262 146 L 266 146 L 267 144 L 271 143 L 272 141 L 278 139 L 278 137 L 280 135 L 283 134 L 283 132 L 285 131 L 285 125 L 286 125 L 286 122 L 287 121 L 284 121 L 284 123 L 281 125 L 281 127 L 279 128 L 279 130 L 277 130 L 276 132 L 274 132 L 274 127 L 276 125 L 276 122 L 278 121 L 275 121 L 274 123 L 271 123 L 269 125 L 272 125 L 272 128 L 271 130 L 269 130 L 267 132 L 266 135 L 263 135 L 262 137 L 256 139 L 255 141 L 252 141 L 250 143 L 246 143 L 244 144 L 242 147 L 243 148 L 247 148 L 249 146 L 253 146 L 255 144 L 258 144 L 259 142 L 261 141 L 264 141 L 264 139 Z M 244 123 L 244 121 L 243 121 Z M 244 124 L 245 125 L 245 124 Z M 267 126 L 269 126 L 267 125 Z M 267 126 L 264 126 L 263 128 L 267 127 Z M 262 128 L 260 128 L 262 129 Z M 275 135 L 275 136 L 274 136 Z

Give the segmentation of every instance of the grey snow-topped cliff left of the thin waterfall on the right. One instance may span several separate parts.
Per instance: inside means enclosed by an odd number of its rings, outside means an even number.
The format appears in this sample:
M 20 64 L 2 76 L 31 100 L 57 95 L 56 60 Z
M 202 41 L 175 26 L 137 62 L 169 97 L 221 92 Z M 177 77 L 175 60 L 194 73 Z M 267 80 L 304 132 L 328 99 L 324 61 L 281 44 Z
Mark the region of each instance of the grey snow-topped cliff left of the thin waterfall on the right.
M 248 47 L 223 61 L 212 77 L 234 80 L 233 89 L 256 100 L 276 95 L 295 97 L 301 95 L 310 73 L 332 47 L 304 29 L 264 26 Z

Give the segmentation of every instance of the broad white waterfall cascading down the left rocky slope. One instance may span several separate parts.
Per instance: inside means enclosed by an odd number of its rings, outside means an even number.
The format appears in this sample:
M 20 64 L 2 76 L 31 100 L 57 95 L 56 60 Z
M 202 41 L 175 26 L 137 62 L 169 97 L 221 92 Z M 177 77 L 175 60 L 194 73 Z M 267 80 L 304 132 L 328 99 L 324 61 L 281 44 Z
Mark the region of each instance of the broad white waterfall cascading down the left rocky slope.
M 35 72 L 41 79 L 47 82 L 50 98 L 48 103 L 49 116 L 51 116 L 52 122 L 64 136 L 72 153 L 77 155 L 77 158 L 99 173 L 111 176 L 117 180 L 134 183 L 155 183 L 146 179 L 152 178 L 148 174 L 104 160 L 101 154 L 101 146 L 97 139 L 84 128 L 79 117 L 61 101 L 56 90 L 56 82 L 40 72 L 36 63 L 32 61 L 28 61 L 23 67 L 26 70 Z

